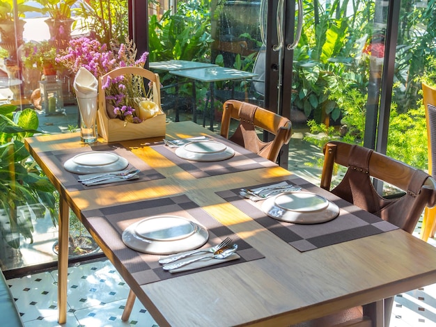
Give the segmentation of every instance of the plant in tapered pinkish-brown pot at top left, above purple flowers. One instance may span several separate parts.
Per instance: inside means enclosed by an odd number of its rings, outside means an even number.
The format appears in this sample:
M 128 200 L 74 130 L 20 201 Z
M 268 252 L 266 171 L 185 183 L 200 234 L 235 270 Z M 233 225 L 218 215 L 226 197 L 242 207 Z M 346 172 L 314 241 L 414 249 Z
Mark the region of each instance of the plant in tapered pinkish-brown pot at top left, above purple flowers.
M 43 13 L 50 15 L 45 23 L 49 26 L 50 40 L 59 49 L 65 49 L 70 40 L 71 25 L 74 19 L 71 18 L 71 6 L 77 0 L 36 0 L 44 8 Z

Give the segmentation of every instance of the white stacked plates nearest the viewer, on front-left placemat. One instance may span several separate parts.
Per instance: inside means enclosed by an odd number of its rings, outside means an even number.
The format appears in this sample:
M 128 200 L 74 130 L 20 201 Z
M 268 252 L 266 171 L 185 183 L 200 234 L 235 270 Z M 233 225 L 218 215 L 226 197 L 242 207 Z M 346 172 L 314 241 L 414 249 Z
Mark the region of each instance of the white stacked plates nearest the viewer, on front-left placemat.
M 194 250 L 203 246 L 208 239 L 208 230 L 202 225 L 171 215 L 145 218 L 123 232 L 126 246 L 155 255 Z

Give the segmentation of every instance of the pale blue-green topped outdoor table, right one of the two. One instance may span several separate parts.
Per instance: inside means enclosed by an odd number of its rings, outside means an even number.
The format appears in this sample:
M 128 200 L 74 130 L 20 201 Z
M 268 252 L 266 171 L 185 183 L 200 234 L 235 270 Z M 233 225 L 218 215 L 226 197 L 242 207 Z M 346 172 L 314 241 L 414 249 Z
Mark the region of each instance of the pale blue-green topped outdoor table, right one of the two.
M 210 118 L 210 130 L 213 131 L 213 121 L 215 116 L 215 108 L 214 108 L 214 89 L 215 82 L 217 81 L 235 81 L 238 79 L 250 79 L 251 77 L 255 77 L 256 74 L 252 72 L 244 72 L 242 70 L 235 70 L 233 68 L 226 67 L 208 67 L 208 68 L 197 68 L 192 70 L 171 70 L 170 74 L 174 74 L 180 77 L 187 77 L 194 81 L 201 81 L 205 83 L 210 83 L 210 110 L 209 110 L 209 118 Z M 196 94 L 195 94 L 195 83 L 192 86 L 192 97 L 194 99 L 194 109 L 192 113 L 192 120 L 194 122 L 197 121 L 196 118 Z M 204 111 L 203 111 L 203 127 L 205 127 L 205 118 L 206 111 L 208 109 L 208 103 L 205 103 Z

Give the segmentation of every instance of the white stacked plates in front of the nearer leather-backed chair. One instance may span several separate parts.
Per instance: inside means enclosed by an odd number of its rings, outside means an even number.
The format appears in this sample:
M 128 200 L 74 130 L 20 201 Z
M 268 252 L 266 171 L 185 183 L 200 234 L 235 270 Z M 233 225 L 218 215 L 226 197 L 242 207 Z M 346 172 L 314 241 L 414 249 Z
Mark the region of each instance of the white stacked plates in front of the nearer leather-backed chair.
M 308 192 L 280 193 L 267 198 L 262 211 L 271 218 L 288 223 L 325 223 L 336 218 L 339 208 L 333 202 Z

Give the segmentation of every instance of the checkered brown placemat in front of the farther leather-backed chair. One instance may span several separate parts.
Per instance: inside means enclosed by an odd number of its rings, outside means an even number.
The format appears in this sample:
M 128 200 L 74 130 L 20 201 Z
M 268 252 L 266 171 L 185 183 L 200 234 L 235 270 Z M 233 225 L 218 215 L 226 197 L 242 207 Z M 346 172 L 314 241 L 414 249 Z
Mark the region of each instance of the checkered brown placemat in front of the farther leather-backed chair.
M 212 162 L 188 161 L 178 157 L 174 151 L 176 147 L 168 147 L 166 145 L 152 145 L 153 150 L 156 150 L 167 159 L 176 163 L 177 166 L 187 171 L 196 178 L 209 177 L 221 174 L 236 173 L 244 170 L 253 170 L 265 167 L 277 166 L 276 163 L 259 157 L 258 154 L 228 141 L 222 136 L 210 136 L 213 141 L 221 142 L 235 150 L 235 156 L 230 159 Z

